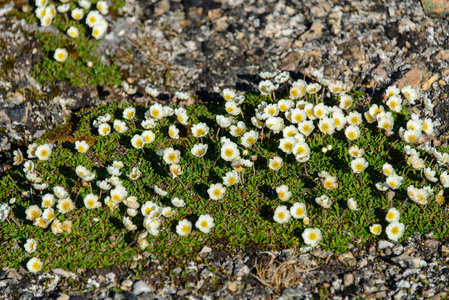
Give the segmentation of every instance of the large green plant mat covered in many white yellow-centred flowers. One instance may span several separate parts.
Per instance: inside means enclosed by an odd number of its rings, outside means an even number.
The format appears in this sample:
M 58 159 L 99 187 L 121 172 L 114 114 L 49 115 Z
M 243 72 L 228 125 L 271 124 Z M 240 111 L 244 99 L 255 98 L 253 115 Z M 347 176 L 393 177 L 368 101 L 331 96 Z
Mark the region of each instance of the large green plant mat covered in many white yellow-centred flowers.
M 449 154 L 426 142 L 432 121 L 407 112 L 413 89 L 372 103 L 316 70 L 312 83 L 275 75 L 221 102 L 85 109 L 76 142 L 17 150 L 0 180 L 1 261 L 76 271 L 205 245 L 344 252 L 446 238 Z

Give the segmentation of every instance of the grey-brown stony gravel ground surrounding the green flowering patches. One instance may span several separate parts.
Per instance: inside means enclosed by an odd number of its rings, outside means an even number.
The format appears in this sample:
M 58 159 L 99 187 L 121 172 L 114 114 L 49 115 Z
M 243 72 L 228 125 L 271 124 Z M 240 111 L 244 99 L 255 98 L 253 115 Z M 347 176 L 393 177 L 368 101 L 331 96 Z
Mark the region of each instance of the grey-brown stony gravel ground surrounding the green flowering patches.
M 10 168 L 17 146 L 70 122 L 81 107 L 122 97 L 121 87 L 36 82 L 33 63 L 42 53 L 34 34 L 41 29 L 9 15 L 26 9 L 25 2 L 0 4 L 2 171 Z M 139 87 L 129 98 L 135 102 L 143 100 L 146 85 L 163 91 L 165 101 L 175 91 L 208 101 L 225 87 L 255 90 L 261 71 L 287 70 L 302 78 L 308 66 L 373 98 L 382 98 L 389 85 L 411 84 L 435 104 L 430 115 L 437 129 L 434 144 L 447 145 L 449 19 L 443 8 L 448 2 L 127 0 L 101 51 L 105 63 L 114 58 L 128 82 Z M 119 34 L 124 29 L 126 34 Z M 419 112 L 420 105 L 412 109 Z M 33 277 L 25 270 L 3 270 L 0 298 L 444 299 L 447 247 L 447 241 L 429 236 L 396 245 L 355 245 L 341 255 L 320 250 L 225 255 L 205 249 L 191 264 L 158 269 L 151 261 L 138 272 L 131 266 L 79 274 L 53 270 Z

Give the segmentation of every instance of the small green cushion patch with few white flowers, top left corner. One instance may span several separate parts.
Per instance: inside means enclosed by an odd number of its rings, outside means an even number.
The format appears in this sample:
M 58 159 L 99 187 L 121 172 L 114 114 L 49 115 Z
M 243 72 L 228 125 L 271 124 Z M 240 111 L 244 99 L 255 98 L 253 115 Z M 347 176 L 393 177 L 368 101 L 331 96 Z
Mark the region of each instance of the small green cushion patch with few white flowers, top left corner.
M 67 81 L 76 86 L 120 84 L 118 67 L 113 61 L 106 65 L 97 52 L 101 39 L 125 2 L 109 4 L 98 0 L 30 1 L 33 9 L 26 14 L 26 19 L 40 25 L 36 38 L 41 43 L 39 50 L 44 53 L 33 65 L 33 76 L 39 82 Z

